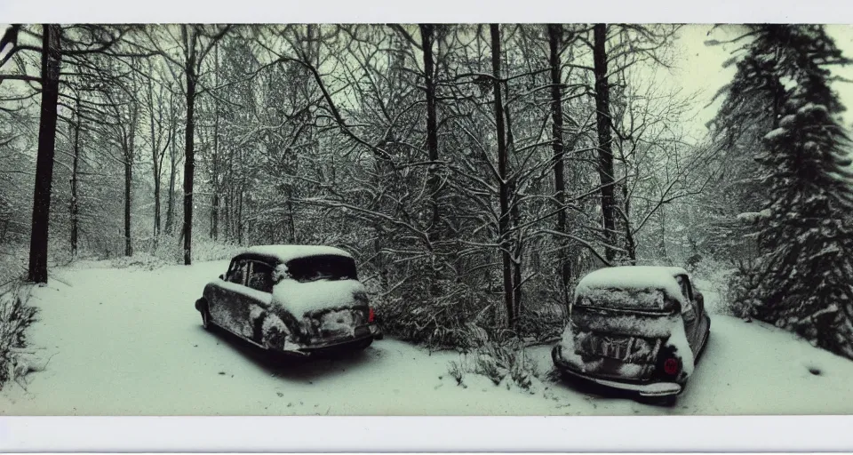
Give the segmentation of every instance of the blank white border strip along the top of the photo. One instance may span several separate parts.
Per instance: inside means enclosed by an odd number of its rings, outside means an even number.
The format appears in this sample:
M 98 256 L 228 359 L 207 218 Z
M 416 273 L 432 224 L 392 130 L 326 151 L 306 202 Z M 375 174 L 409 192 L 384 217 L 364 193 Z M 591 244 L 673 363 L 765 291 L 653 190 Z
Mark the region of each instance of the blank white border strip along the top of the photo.
M 847 0 L 3 0 L 4 22 L 853 23 Z

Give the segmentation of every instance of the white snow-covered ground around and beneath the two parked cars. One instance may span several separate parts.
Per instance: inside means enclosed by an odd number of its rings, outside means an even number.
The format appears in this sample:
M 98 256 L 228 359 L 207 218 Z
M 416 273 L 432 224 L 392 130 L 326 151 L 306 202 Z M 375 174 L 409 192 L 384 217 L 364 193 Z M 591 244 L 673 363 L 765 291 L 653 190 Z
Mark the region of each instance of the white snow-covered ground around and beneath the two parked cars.
M 226 268 L 87 263 L 56 271 L 31 299 L 41 320 L 30 341 L 50 362 L 28 375 L 26 391 L 15 382 L 4 388 L 0 415 L 853 413 L 853 362 L 722 315 L 713 315 L 706 353 L 673 408 L 563 383 L 530 395 L 468 375 L 459 387 L 447 372 L 458 354 L 394 339 L 352 358 L 276 364 L 202 329 L 193 304 Z M 551 367 L 549 351 L 530 348 L 541 371 Z

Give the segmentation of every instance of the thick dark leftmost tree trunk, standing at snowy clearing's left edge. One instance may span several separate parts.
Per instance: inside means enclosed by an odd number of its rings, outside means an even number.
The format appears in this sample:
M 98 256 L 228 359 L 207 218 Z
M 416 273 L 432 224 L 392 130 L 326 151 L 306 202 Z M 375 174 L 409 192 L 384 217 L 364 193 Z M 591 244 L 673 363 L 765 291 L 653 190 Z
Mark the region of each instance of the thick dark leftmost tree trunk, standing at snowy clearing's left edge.
M 29 240 L 28 280 L 47 283 L 47 242 L 51 217 L 53 153 L 56 145 L 56 107 L 60 95 L 60 43 L 62 28 L 44 25 L 42 36 L 42 108 L 38 122 L 36 185 L 33 224 Z

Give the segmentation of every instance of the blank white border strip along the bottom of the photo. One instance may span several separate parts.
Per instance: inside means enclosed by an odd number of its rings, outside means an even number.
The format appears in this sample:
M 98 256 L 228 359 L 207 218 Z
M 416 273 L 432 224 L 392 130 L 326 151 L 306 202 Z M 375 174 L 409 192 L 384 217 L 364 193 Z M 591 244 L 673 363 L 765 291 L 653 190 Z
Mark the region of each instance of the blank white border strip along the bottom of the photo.
M 853 417 L 2 417 L 0 451 L 851 451 Z

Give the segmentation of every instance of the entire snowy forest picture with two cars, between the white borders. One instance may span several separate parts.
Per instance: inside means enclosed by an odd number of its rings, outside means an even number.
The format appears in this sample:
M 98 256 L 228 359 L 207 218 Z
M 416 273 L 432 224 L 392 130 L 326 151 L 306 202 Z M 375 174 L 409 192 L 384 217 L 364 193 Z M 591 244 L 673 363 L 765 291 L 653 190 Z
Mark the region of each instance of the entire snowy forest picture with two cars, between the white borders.
M 2 416 L 853 414 L 853 26 L 0 34 Z

